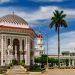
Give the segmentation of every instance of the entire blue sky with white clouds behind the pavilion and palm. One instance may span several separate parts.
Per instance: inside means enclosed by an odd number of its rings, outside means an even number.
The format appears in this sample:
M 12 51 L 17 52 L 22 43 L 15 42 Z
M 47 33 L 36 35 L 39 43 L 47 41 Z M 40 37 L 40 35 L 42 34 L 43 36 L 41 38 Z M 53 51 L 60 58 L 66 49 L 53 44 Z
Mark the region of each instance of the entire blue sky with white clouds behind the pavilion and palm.
M 0 16 L 15 14 L 24 18 L 37 33 L 43 35 L 46 49 L 47 35 L 49 54 L 57 54 L 57 32 L 49 29 L 54 10 L 63 10 L 68 28 L 61 28 L 61 52 L 75 49 L 75 0 L 0 0 Z

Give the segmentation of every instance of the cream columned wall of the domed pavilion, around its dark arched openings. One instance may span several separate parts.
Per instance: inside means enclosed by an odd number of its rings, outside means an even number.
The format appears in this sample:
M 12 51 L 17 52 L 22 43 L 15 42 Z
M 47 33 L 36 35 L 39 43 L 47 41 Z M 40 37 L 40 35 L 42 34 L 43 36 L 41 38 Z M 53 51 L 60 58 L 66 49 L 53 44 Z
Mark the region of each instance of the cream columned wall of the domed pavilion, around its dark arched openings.
M 20 51 L 22 51 L 22 40 L 24 40 L 24 51 L 25 51 L 25 64 L 30 65 L 30 36 L 22 36 L 22 35 L 11 35 L 11 34 L 1 34 L 0 35 L 0 52 L 1 52 L 1 65 L 6 65 L 11 62 L 13 59 L 13 54 L 9 53 L 8 50 L 8 39 L 10 39 L 10 45 L 13 47 L 13 40 L 18 39 L 20 42 Z M 33 40 L 33 39 L 32 39 Z M 33 41 L 32 41 L 33 42 Z M 34 43 L 34 42 L 33 42 Z M 9 55 L 7 54 L 9 53 Z M 32 60 L 33 59 L 32 55 Z M 23 60 L 23 55 L 20 54 L 20 60 Z

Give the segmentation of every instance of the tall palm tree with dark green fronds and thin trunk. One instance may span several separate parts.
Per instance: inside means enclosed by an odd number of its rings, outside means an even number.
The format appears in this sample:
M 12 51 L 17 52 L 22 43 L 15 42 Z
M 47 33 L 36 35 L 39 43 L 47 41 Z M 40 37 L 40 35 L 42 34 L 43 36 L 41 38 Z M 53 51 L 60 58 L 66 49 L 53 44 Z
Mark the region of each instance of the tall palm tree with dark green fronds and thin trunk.
M 51 18 L 50 28 L 55 26 L 55 30 L 58 32 L 58 66 L 60 68 L 60 27 L 67 27 L 67 22 L 65 21 L 66 14 L 63 11 L 55 10 L 53 12 L 53 17 Z

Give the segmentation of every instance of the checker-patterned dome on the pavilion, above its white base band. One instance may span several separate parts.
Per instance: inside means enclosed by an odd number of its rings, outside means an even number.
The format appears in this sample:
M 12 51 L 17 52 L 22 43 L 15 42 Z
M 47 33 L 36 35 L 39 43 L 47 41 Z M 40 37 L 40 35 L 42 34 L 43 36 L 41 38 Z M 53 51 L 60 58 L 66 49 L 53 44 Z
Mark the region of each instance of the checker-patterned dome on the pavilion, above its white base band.
M 21 17 L 11 14 L 6 15 L 0 18 L 0 23 L 12 23 L 12 24 L 19 24 L 19 25 L 28 25 L 28 23 Z

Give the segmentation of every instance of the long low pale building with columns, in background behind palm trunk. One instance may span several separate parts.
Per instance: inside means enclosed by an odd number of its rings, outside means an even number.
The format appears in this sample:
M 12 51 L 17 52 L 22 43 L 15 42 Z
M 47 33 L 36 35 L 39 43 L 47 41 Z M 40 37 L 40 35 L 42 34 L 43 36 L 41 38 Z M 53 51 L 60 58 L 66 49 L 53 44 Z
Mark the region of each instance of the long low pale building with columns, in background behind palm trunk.
M 49 55 L 49 57 L 58 59 L 58 55 Z M 60 60 L 61 59 L 68 60 L 68 66 L 75 66 L 75 52 L 63 51 L 60 55 Z M 65 62 L 63 64 L 65 65 Z

